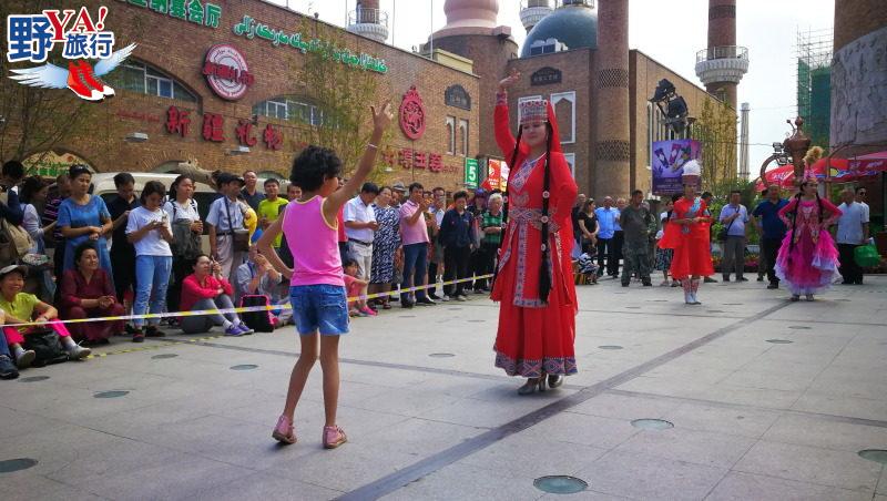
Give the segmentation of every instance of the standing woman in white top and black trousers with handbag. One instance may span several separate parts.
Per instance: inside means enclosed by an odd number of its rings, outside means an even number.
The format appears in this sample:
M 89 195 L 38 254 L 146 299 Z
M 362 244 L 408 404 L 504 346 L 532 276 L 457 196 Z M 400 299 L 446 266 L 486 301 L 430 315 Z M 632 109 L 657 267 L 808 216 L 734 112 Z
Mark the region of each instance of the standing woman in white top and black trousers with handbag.
M 182 174 L 170 186 L 170 200 L 163 211 L 170 218 L 173 228 L 173 273 L 166 294 L 166 309 L 179 311 L 179 299 L 182 296 L 182 280 L 191 275 L 191 263 L 201 254 L 201 235 L 203 222 L 194 200 L 194 177 Z

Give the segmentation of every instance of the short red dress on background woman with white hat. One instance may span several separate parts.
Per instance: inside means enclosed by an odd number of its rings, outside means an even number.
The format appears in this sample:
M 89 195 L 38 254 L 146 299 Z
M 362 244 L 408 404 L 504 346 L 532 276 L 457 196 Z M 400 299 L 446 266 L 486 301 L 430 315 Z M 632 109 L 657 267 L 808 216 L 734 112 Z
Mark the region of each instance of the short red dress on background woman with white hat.
M 674 203 L 672 219 L 705 217 L 707 208 L 702 198 L 696 197 L 691 202 L 683 197 Z M 674 249 L 672 266 L 669 269 L 672 277 L 681 280 L 692 276 L 707 277 L 714 275 L 710 225 L 711 223 L 708 222 L 691 223 L 689 225 L 665 225 L 665 233 L 660 239 L 659 246 Z

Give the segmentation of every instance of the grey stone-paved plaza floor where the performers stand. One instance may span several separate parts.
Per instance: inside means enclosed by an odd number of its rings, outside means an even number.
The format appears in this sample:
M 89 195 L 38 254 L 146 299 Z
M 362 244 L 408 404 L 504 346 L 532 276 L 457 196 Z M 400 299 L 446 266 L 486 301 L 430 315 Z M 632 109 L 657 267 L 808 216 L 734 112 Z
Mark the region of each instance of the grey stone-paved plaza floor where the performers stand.
M 0 499 L 887 501 L 885 466 L 858 454 L 887 449 L 886 277 L 815 303 L 755 282 L 705 285 L 702 306 L 614 280 L 579 297 L 579 375 L 531 397 L 492 366 L 486 297 L 356 319 L 340 345 L 349 442 L 333 451 L 319 366 L 298 443 L 271 438 L 292 327 L 118 338 L 24 370 L 0 381 L 0 461 L 37 463 L 0 472 Z M 547 494 L 543 476 L 588 488 Z

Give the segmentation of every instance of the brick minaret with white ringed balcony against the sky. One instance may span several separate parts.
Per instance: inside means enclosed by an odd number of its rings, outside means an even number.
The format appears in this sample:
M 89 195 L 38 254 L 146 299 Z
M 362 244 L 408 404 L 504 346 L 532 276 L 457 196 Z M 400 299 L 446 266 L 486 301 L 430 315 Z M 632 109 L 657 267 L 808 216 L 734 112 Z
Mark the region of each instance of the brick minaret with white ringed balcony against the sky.
M 736 110 L 736 88 L 747 71 L 748 50 L 736 45 L 736 0 L 708 0 L 708 48 L 696 54 L 696 75 Z

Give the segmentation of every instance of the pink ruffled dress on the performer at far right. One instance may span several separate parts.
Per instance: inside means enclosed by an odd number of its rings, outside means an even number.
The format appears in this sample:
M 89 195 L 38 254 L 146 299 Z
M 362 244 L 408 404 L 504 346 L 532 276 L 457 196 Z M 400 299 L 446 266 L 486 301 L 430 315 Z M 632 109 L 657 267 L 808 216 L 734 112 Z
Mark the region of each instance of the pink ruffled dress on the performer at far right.
M 819 215 L 820 204 L 824 213 Z M 779 218 L 788 226 L 776 257 L 775 272 L 788 285 L 793 295 L 818 294 L 840 278 L 838 250 L 827 228 L 840 211 L 825 198 L 806 201 L 798 197 L 779 211 Z M 794 216 L 794 223 L 788 216 Z

